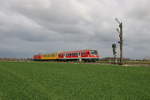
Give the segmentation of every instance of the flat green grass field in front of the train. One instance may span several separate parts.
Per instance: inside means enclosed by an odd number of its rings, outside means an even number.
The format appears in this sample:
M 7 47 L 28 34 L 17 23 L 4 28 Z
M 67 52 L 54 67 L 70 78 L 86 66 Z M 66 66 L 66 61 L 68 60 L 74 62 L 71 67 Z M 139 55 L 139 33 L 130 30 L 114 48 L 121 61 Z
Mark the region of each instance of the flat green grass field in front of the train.
M 0 62 L 0 100 L 150 100 L 150 67 Z

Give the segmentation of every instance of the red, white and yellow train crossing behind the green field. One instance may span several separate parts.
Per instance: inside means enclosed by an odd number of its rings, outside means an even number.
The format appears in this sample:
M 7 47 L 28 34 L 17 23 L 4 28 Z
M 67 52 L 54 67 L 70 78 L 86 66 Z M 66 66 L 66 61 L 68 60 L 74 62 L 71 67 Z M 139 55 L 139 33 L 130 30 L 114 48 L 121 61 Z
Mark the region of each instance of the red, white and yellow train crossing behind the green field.
M 84 61 L 95 62 L 100 56 L 97 50 L 60 51 L 49 54 L 37 54 L 33 56 L 34 61 Z

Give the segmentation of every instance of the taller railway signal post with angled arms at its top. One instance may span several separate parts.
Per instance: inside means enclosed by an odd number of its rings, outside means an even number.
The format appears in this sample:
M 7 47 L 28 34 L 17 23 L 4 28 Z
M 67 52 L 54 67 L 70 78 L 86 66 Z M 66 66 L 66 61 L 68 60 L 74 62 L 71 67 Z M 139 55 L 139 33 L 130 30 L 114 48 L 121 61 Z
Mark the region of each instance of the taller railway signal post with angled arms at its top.
M 123 25 L 117 18 L 115 18 L 116 22 L 119 24 L 119 29 L 117 28 L 117 32 L 119 33 L 120 41 L 120 64 L 123 64 Z

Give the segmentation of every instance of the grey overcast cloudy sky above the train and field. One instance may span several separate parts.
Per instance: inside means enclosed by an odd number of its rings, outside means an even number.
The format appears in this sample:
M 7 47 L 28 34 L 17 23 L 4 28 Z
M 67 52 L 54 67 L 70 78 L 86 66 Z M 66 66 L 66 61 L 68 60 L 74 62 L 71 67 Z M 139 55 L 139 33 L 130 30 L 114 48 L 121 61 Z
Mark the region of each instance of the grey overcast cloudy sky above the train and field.
M 149 9 L 150 0 L 0 0 L 0 57 L 80 49 L 112 56 L 116 17 L 124 56 L 150 57 Z

